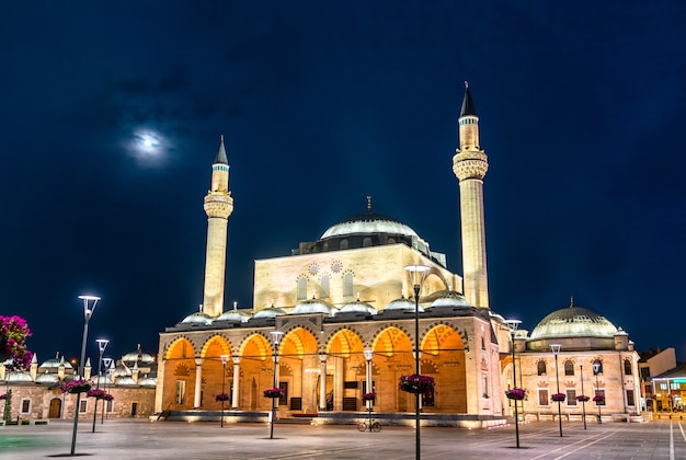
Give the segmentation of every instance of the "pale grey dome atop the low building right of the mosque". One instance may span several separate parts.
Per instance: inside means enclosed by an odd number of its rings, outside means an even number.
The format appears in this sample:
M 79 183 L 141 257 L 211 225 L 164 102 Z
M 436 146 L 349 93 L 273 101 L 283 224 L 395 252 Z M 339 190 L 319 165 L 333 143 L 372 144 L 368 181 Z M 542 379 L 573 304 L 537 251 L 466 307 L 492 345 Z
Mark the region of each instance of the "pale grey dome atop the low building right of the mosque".
M 573 304 L 553 311 L 544 318 L 531 332 L 530 340 L 562 337 L 611 338 L 617 327 L 592 310 Z

